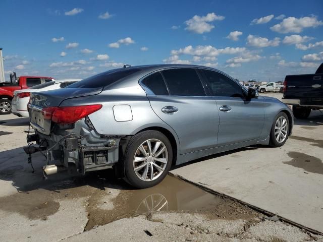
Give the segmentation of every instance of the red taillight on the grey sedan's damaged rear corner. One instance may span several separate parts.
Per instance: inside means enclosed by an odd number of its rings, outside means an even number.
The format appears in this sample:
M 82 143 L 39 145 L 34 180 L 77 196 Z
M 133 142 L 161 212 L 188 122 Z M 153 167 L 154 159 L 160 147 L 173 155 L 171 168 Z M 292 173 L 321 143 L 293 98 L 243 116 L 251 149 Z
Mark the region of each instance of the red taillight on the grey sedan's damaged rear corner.
M 101 104 L 73 107 L 45 107 L 41 113 L 44 119 L 51 119 L 58 124 L 74 124 L 77 120 L 99 110 Z

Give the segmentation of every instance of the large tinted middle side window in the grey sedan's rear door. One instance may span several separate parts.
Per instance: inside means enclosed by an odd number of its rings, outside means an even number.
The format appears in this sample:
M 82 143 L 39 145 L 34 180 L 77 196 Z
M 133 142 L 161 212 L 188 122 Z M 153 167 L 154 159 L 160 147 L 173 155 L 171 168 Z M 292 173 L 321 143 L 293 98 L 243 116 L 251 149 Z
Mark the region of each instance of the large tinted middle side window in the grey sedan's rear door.
M 163 71 L 165 81 L 172 96 L 205 96 L 202 83 L 192 68 Z

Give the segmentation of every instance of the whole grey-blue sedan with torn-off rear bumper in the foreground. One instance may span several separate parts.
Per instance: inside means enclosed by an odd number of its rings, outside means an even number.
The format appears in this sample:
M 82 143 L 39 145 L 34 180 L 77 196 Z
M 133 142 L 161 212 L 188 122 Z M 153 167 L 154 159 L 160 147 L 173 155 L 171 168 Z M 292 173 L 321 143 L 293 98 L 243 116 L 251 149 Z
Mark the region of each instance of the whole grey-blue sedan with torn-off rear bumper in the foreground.
M 107 71 L 66 88 L 30 94 L 44 174 L 114 167 L 134 187 L 158 184 L 172 164 L 249 145 L 280 147 L 290 108 L 259 97 L 216 69 L 151 65 Z M 59 164 L 59 165 L 58 165 Z

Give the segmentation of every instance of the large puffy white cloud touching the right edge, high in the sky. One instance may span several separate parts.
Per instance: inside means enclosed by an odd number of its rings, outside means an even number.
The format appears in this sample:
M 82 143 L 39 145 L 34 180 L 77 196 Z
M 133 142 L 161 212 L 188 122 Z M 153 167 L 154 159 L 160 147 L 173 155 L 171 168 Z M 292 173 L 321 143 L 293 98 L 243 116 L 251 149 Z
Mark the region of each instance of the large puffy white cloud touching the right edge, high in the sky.
M 322 21 L 317 20 L 316 16 L 295 18 L 288 17 L 284 19 L 281 23 L 272 26 L 270 29 L 279 33 L 300 33 L 304 28 L 315 28 L 317 26 L 323 25 Z

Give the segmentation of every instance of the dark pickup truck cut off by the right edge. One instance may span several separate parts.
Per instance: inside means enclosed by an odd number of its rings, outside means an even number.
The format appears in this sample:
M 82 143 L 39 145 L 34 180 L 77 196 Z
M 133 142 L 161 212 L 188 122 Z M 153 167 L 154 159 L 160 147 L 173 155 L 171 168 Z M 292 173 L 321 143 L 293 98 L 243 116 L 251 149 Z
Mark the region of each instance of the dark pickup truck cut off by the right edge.
M 293 105 L 296 118 L 307 118 L 312 109 L 323 109 L 323 63 L 315 74 L 286 76 L 282 102 Z

